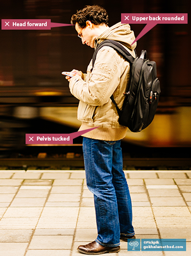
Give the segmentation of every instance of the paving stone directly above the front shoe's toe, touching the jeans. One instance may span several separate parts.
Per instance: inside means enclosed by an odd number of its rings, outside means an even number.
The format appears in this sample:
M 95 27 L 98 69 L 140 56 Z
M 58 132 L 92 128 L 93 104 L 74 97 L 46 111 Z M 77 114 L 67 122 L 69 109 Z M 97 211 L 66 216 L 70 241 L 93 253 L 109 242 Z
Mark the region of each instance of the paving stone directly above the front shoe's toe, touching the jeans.
M 97 228 L 77 228 L 74 241 L 94 241 L 97 238 Z

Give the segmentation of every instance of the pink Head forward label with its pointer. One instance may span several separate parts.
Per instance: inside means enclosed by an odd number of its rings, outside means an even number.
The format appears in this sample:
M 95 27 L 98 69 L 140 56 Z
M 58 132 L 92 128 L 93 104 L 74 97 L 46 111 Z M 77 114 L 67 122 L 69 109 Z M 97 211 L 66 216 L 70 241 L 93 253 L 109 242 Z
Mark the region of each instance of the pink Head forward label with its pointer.
M 63 27 L 63 26 L 73 26 L 71 24 L 65 23 L 53 23 L 51 20 L 10 20 L 3 19 L 1 20 L 1 29 L 2 30 L 35 30 L 35 29 L 51 29 L 54 27 Z

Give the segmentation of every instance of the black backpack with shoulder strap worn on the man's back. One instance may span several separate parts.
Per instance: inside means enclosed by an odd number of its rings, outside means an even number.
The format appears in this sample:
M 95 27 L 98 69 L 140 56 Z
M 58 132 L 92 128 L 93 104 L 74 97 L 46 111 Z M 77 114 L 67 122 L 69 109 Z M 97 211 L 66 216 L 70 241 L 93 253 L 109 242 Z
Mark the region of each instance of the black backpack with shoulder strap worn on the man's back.
M 145 50 L 141 51 L 140 57 L 134 58 L 117 41 L 107 39 L 95 49 L 92 57 L 93 67 L 97 52 L 103 46 L 112 47 L 130 64 L 130 78 L 122 109 L 118 108 L 113 95 L 110 99 L 117 109 L 119 124 L 127 126 L 131 132 L 140 132 L 151 124 L 159 102 L 160 82 L 157 78 L 156 63 L 146 58 Z

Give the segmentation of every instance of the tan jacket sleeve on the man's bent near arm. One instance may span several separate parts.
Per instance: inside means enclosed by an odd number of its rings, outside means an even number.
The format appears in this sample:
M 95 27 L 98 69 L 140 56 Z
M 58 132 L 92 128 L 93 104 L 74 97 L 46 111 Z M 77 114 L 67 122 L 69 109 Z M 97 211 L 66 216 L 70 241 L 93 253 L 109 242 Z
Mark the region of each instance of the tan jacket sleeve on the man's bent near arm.
M 108 49 L 109 48 L 109 49 Z M 120 83 L 121 56 L 111 47 L 102 47 L 96 56 L 94 68 L 87 82 L 79 76 L 70 80 L 70 92 L 79 100 L 92 105 L 102 106 Z

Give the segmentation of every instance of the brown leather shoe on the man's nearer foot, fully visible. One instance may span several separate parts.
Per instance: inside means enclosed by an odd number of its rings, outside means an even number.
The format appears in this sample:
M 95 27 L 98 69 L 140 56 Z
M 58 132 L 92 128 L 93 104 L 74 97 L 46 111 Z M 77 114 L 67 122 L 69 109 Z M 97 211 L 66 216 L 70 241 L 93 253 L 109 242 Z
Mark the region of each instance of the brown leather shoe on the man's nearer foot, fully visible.
M 118 253 L 120 246 L 109 247 L 102 246 L 96 241 L 93 241 L 87 245 L 79 245 L 77 250 L 84 254 L 102 254 L 102 253 Z

